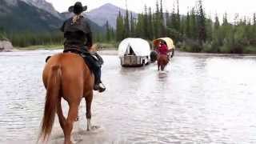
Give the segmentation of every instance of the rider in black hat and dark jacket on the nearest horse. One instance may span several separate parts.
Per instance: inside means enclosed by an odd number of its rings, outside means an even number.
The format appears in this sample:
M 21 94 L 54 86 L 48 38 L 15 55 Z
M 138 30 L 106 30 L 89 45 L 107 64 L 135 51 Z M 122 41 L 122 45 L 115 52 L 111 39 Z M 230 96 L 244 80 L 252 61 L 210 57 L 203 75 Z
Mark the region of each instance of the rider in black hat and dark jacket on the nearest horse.
M 94 90 L 103 92 L 106 87 L 101 81 L 102 58 L 97 53 L 91 53 L 92 33 L 86 18 L 82 16 L 82 12 L 87 10 L 87 6 L 82 6 L 81 2 L 76 2 L 74 6 L 70 6 L 69 11 L 75 15 L 73 18 L 67 19 L 61 30 L 64 32 L 64 53 L 73 52 L 80 54 L 84 58 L 90 70 L 94 73 Z

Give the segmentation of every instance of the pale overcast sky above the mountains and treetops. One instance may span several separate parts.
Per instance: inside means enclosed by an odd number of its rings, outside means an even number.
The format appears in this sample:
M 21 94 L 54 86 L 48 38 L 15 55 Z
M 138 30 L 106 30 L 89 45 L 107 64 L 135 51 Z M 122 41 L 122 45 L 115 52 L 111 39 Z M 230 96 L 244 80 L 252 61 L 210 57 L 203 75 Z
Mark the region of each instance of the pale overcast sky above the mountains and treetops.
M 63 12 L 66 11 L 69 6 L 74 5 L 74 2 L 78 0 L 46 1 L 51 2 L 59 12 Z M 172 10 L 174 1 L 177 0 L 162 0 L 164 10 Z M 181 13 L 186 14 L 188 7 L 194 6 L 196 1 L 197 0 L 179 0 Z M 95 9 L 108 2 L 126 8 L 126 0 L 80 0 L 80 2 L 82 2 L 83 5 L 87 5 L 88 10 Z M 156 0 L 127 0 L 128 9 L 137 13 L 141 13 L 144 10 L 145 4 L 146 6 L 155 8 L 155 3 Z M 253 13 L 256 13 L 256 0 L 204 0 L 203 5 L 206 8 L 207 14 L 211 16 L 216 13 L 222 15 L 225 12 L 231 17 L 234 17 L 235 13 L 238 13 L 239 16 L 251 16 Z

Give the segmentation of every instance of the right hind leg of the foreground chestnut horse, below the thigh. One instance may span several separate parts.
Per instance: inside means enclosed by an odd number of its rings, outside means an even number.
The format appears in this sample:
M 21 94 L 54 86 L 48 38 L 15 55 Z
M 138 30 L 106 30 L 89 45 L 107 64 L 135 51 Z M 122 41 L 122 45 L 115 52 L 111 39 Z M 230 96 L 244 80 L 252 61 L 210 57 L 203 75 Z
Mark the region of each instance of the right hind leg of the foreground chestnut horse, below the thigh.
M 64 135 L 65 144 L 70 144 L 71 142 L 71 132 L 73 130 L 73 124 L 75 119 L 78 117 L 78 106 L 79 103 L 70 103 L 69 114 L 66 118 L 66 125 L 64 125 Z

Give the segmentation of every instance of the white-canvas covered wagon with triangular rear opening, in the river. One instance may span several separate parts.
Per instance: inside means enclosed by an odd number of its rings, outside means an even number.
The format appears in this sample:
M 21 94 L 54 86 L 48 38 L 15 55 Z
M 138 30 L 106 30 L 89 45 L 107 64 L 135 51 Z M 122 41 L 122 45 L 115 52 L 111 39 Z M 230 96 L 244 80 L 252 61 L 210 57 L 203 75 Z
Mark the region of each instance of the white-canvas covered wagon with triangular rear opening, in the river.
M 118 46 L 122 66 L 144 66 L 150 63 L 150 44 L 142 38 L 126 38 Z

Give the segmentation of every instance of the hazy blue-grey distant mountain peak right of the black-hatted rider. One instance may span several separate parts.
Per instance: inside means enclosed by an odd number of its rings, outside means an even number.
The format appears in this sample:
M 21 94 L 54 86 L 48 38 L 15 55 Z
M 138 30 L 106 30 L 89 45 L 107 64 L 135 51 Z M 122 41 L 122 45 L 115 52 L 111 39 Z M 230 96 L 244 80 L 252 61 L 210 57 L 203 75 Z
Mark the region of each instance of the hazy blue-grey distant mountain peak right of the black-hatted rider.
M 103 6 L 98 7 L 97 9 L 90 10 L 86 12 L 86 17 L 89 18 L 91 21 L 97 23 L 99 26 L 105 26 L 106 21 L 109 22 L 110 26 L 114 29 L 116 27 L 116 19 L 118 18 L 119 10 L 122 15 L 126 15 L 126 10 L 114 6 L 110 3 L 106 3 Z M 130 15 L 129 11 L 129 15 Z M 134 18 L 138 17 L 138 14 L 132 12 Z

